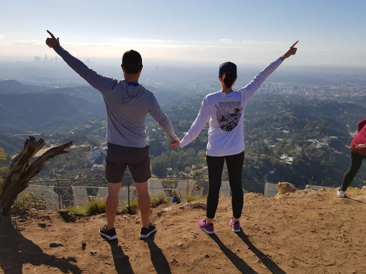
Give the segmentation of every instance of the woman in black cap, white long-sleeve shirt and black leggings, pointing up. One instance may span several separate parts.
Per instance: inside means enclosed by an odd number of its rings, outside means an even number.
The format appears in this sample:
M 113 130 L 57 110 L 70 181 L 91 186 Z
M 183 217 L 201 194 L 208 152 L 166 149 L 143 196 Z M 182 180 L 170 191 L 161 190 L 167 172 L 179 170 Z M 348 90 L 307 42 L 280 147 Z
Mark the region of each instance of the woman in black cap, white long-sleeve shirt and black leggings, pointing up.
M 213 218 L 219 201 L 221 174 L 226 160 L 229 184 L 232 193 L 233 218 L 229 225 L 234 232 L 240 232 L 240 216 L 243 208 L 242 169 L 244 163 L 244 109 L 259 86 L 286 58 L 296 53 L 297 44 L 266 66 L 244 88 L 234 91 L 232 86 L 236 81 L 236 65 L 231 62 L 221 64 L 219 81 L 221 90 L 207 95 L 201 104 L 198 116 L 180 142 L 174 142 L 172 147 L 188 145 L 209 122 L 208 144 L 206 159 L 209 176 L 209 191 L 207 196 L 206 219 L 198 222 L 199 228 L 208 234 L 213 234 Z

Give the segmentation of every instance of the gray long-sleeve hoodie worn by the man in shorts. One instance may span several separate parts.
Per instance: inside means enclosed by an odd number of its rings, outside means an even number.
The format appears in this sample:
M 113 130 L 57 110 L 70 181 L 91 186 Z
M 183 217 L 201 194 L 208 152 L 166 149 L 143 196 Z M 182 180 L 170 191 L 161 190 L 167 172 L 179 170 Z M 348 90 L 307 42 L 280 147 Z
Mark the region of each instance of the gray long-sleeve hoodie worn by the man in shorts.
M 100 75 L 61 46 L 58 46 L 55 51 L 71 69 L 102 93 L 107 110 L 108 142 L 126 147 L 146 147 L 147 113 L 150 113 L 158 122 L 171 141 L 179 140 L 168 116 L 150 90 L 142 85 L 128 85 L 125 79 L 117 80 Z

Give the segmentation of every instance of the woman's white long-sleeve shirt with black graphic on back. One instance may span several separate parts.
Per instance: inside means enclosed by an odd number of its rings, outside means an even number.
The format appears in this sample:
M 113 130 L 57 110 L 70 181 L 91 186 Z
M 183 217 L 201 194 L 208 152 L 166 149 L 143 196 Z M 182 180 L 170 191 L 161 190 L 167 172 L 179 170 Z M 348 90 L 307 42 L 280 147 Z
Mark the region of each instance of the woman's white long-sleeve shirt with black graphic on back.
M 229 94 L 214 92 L 206 95 L 197 118 L 184 135 L 179 146 L 184 147 L 193 141 L 209 122 L 206 155 L 229 156 L 244 151 L 244 109 L 250 97 L 259 89 L 264 80 L 282 63 L 281 59 L 266 66 L 238 91 Z

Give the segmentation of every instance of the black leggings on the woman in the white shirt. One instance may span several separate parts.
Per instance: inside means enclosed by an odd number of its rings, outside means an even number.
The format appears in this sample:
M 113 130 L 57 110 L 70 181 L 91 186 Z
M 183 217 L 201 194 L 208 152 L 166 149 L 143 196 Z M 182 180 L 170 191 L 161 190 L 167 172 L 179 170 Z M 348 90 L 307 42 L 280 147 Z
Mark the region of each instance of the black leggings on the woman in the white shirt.
M 226 160 L 231 188 L 232 214 L 234 218 L 240 218 L 243 209 L 242 170 L 244 151 L 230 156 L 213 157 L 207 155 L 206 159 L 209 181 L 206 217 L 215 217 L 217 204 L 219 203 L 221 175 L 223 173 L 224 160 Z

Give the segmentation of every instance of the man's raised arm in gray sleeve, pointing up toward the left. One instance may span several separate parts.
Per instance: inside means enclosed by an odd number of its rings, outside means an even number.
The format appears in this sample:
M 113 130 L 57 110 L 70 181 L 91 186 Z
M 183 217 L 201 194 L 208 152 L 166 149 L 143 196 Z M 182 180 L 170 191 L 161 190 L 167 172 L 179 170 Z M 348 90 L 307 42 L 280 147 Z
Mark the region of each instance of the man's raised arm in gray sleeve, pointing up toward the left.
M 96 73 L 94 70 L 89 69 L 83 62 L 72 56 L 65 49 L 60 46 L 59 38 L 55 38 L 51 32 L 49 32 L 51 38 L 46 39 L 48 47 L 53 48 L 58 55 L 71 67 L 77 74 L 84 78 L 91 86 L 99 90 L 101 93 L 111 91 L 116 85 L 117 80 L 106 77 L 104 75 Z

